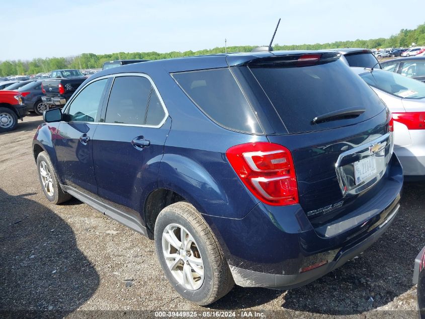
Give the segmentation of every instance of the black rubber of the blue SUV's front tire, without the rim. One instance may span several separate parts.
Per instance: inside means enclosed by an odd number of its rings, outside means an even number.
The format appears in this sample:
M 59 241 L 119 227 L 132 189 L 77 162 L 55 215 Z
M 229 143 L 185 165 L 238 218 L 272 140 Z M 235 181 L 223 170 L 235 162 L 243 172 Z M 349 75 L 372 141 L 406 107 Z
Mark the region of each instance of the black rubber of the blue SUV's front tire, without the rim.
M 45 164 L 42 164 L 45 163 Z M 43 185 L 42 180 L 42 174 L 40 172 L 40 168 L 42 165 L 47 165 L 50 176 L 51 176 L 51 187 L 48 187 L 49 190 L 52 190 L 51 194 L 48 193 L 48 190 Z M 66 201 L 69 201 L 72 196 L 68 193 L 63 192 L 62 188 L 59 185 L 56 172 L 53 168 L 52 162 L 50 161 L 49 156 L 46 152 L 40 152 L 37 156 L 37 172 L 38 172 L 38 179 L 40 180 L 41 188 L 43 189 L 43 193 L 46 196 L 46 198 L 49 200 L 49 202 L 52 202 L 53 204 L 60 204 Z

